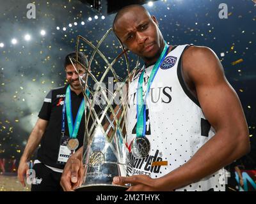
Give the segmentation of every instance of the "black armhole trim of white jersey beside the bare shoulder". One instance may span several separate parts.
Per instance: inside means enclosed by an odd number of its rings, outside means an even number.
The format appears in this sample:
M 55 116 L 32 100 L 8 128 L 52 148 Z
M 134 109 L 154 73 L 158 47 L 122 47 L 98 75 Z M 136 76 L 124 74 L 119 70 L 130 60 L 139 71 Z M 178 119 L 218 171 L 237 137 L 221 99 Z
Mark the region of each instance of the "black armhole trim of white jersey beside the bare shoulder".
M 183 55 L 183 53 L 185 52 L 185 50 L 186 50 L 188 47 L 190 47 L 190 46 L 191 46 L 191 45 L 187 45 L 187 46 L 184 48 L 182 54 L 180 55 L 179 64 L 178 64 L 178 67 L 177 67 L 177 75 L 178 75 L 178 79 L 179 79 L 180 85 L 181 85 L 183 91 L 185 92 L 185 94 L 188 96 L 188 98 L 190 98 L 196 105 L 198 105 L 198 106 L 201 108 L 198 99 L 196 99 L 195 96 L 193 96 L 193 94 L 189 91 L 189 89 L 188 89 L 186 83 L 184 82 L 184 78 L 182 77 L 182 73 L 181 73 L 181 69 L 182 69 L 182 67 L 181 67 L 182 55 Z

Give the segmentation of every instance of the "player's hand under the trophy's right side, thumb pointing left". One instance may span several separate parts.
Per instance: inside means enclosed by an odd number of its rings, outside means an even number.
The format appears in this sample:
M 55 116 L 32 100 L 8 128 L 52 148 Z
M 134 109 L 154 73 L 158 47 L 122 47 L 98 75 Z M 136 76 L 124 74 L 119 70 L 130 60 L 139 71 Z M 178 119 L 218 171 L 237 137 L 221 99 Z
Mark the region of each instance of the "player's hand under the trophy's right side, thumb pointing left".
M 164 191 L 158 185 L 157 179 L 151 179 L 147 175 L 134 175 L 131 177 L 114 177 L 113 184 L 131 184 L 127 191 Z

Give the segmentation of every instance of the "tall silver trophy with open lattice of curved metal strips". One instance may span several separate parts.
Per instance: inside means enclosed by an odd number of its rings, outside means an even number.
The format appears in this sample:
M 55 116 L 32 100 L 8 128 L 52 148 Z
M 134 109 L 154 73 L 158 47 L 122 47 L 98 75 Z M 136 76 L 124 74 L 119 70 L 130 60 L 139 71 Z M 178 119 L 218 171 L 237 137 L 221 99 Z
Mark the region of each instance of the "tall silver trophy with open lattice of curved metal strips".
M 90 41 L 77 36 L 76 52 L 81 52 L 79 45 L 84 43 L 92 48 L 88 67 L 81 64 L 77 59 L 70 59 L 77 73 L 79 81 L 83 87 L 84 108 L 85 112 L 85 133 L 83 143 L 83 165 L 84 175 L 81 186 L 76 191 L 124 191 L 129 187 L 112 184 L 113 177 L 127 176 L 127 168 L 131 168 L 127 163 L 128 150 L 125 147 L 126 142 L 126 112 L 127 112 L 127 84 L 129 79 L 135 73 L 129 70 L 129 62 L 126 50 L 122 47 L 122 52 L 112 61 L 100 52 L 99 47 L 105 38 L 111 33 L 109 29 L 102 39 L 93 45 Z M 95 55 L 105 63 L 102 66 L 101 75 L 99 70 L 92 70 L 92 62 Z M 116 61 L 124 57 L 126 62 L 125 78 L 122 79 L 116 74 L 113 65 Z M 139 62 L 137 61 L 136 67 Z M 94 73 L 93 73 L 94 71 Z M 107 78 L 113 78 L 116 89 L 106 87 Z M 118 99 L 118 101 L 117 101 Z M 102 102 L 103 101 L 103 102 Z

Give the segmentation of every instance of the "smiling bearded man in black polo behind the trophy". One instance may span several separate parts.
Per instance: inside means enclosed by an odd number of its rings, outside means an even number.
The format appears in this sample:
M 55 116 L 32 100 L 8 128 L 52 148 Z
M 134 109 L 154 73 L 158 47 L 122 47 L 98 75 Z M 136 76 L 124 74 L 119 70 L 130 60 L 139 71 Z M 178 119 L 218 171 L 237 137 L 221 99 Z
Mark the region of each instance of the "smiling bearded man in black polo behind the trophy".
M 65 163 L 72 152 L 83 145 L 83 93 L 79 76 L 70 62 L 72 58 L 76 59 L 76 53 L 65 57 L 68 84 L 52 89 L 45 97 L 39 118 L 20 158 L 18 178 L 26 186 L 24 174 L 27 173 L 32 184 L 31 191 L 62 191 L 60 178 Z M 78 60 L 85 66 L 88 65 L 82 53 L 78 54 Z M 39 144 L 34 171 L 28 171 L 29 158 Z

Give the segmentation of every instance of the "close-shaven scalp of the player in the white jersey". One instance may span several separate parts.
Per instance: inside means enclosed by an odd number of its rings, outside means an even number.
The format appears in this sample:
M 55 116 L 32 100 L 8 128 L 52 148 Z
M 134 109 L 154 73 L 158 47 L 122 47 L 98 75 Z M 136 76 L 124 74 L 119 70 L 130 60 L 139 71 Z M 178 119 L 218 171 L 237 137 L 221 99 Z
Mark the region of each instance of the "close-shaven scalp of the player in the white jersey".
M 140 4 L 132 4 L 129 6 L 124 6 L 123 8 L 121 8 L 121 10 L 119 10 L 116 13 L 116 16 L 114 18 L 113 21 L 113 31 L 115 32 L 116 30 L 116 22 L 118 22 L 118 20 L 123 17 L 125 15 L 125 13 L 129 13 L 129 12 L 136 12 L 136 13 L 144 13 L 146 15 L 148 15 L 148 17 L 150 18 L 150 13 L 148 13 L 147 9 L 145 9 L 143 6 L 141 6 Z

